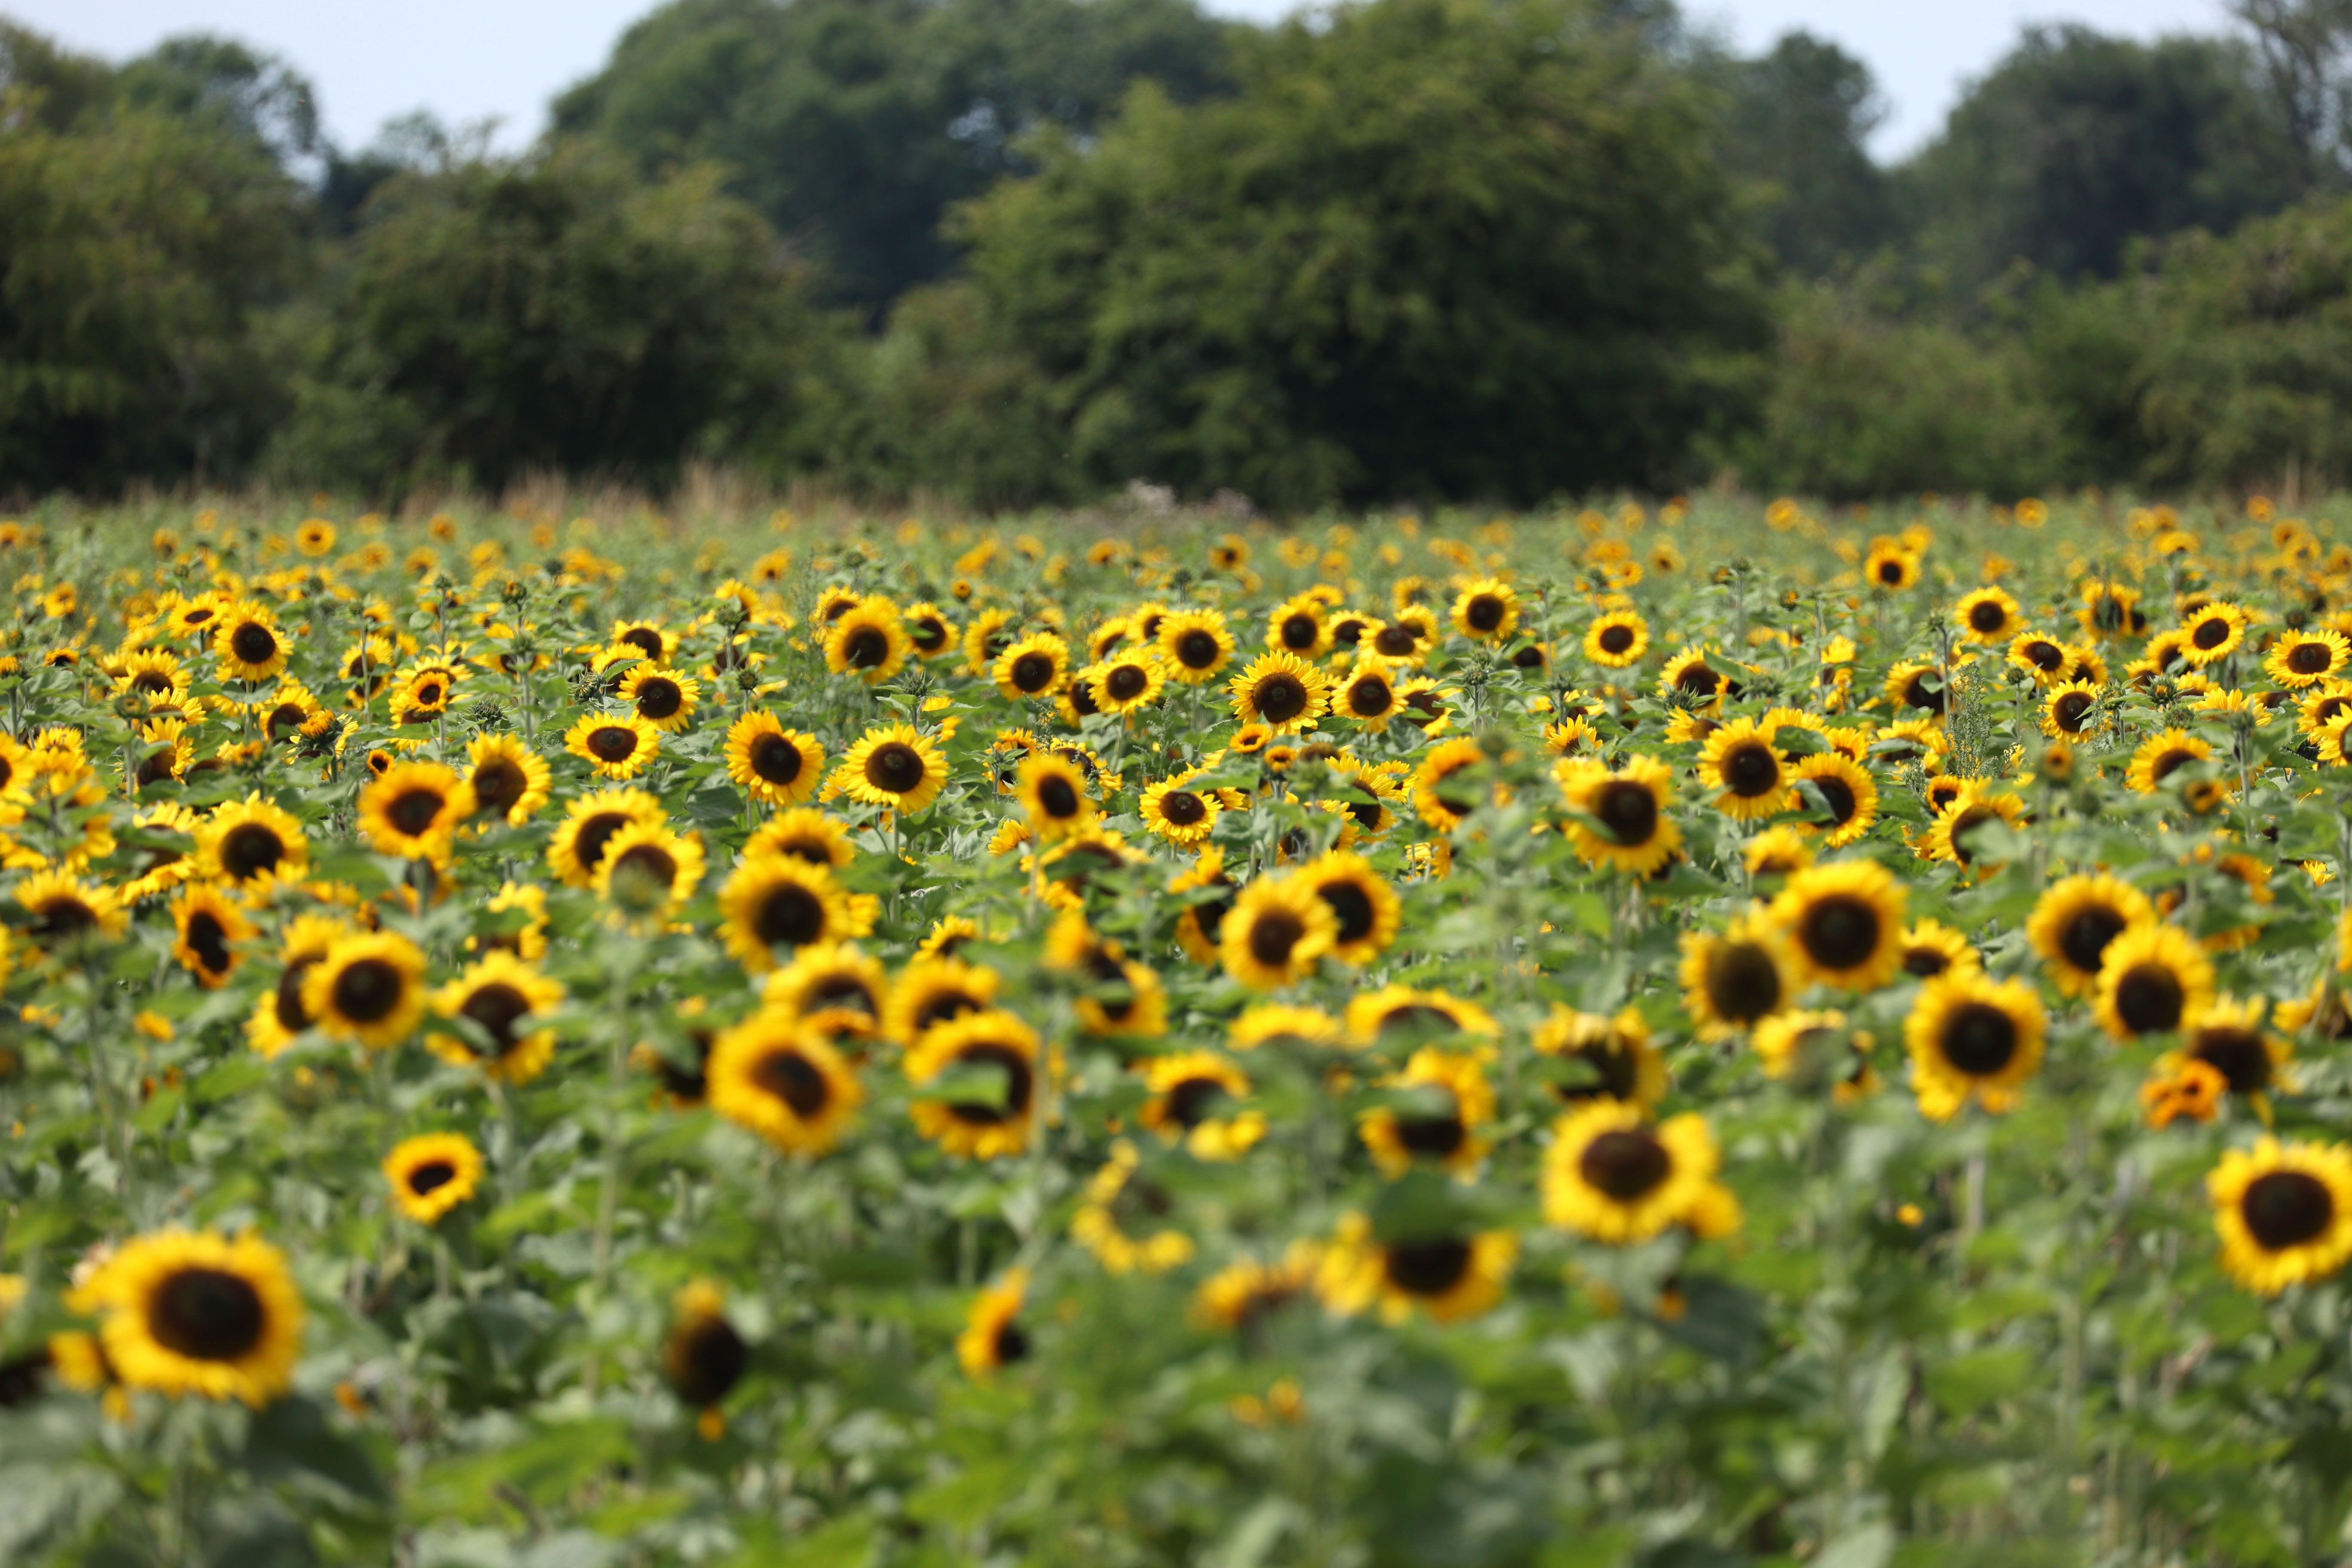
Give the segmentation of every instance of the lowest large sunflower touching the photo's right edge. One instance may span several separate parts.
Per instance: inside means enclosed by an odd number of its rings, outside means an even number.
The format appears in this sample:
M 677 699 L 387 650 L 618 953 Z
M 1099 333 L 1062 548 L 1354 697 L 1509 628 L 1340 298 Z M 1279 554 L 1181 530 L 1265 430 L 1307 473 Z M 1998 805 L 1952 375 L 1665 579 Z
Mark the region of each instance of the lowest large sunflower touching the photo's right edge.
M 2256 1295 L 2326 1279 L 2352 1258 L 2352 1152 L 2340 1143 L 2230 1150 L 2206 1175 L 2220 1262 Z

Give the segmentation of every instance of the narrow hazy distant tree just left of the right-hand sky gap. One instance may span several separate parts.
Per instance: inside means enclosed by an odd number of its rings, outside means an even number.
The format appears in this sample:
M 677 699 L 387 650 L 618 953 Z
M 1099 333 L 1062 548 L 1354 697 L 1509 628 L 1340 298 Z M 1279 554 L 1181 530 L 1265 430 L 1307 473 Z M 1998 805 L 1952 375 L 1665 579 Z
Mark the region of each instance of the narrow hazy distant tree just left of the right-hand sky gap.
M 1884 103 L 1870 66 L 1811 33 L 1722 61 L 1722 160 L 1750 186 L 1757 237 L 1809 277 L 1896 237 L 1886 172 L 1870 158 Z

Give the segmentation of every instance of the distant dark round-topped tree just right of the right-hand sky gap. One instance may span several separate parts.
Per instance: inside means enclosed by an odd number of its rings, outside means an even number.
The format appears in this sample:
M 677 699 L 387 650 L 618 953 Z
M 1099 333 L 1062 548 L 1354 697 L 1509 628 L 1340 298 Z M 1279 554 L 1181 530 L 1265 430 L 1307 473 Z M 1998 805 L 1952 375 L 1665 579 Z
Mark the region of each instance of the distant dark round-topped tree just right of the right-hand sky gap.
M 2303 190 L 2244 45 L 2027 28 L 1903 188 L 1926 261 L 1962 287 L 2025 261 L 2112 277 L 2138 235 L 2230 230 Z

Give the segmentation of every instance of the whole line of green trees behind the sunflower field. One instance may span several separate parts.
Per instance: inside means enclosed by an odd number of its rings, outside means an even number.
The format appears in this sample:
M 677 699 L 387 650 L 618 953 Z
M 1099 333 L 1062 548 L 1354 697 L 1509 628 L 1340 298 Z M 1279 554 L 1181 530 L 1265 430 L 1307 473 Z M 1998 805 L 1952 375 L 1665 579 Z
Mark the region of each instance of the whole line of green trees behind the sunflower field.
M 2347 14 L 2338 14 L 2338 12 Z M 978 505 L 2352 468 L 2352 7 L 1860 61 L 1665 0 L 675 0 L 499 155 L 0 24 L 0 496 L 717 461 Z

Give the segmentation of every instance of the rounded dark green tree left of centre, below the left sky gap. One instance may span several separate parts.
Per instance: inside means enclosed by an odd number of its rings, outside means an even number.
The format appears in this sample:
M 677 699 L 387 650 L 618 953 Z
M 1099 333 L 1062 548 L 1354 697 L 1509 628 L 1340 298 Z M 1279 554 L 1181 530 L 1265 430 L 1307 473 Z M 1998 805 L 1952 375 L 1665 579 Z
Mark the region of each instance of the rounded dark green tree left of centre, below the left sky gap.
M 527 468 L 659 484 L 767 451 L 826 329 L 715 169 L 640 181 L 576 141 L 390 179 L 325 315 L 273 468 L 374 487 Z

